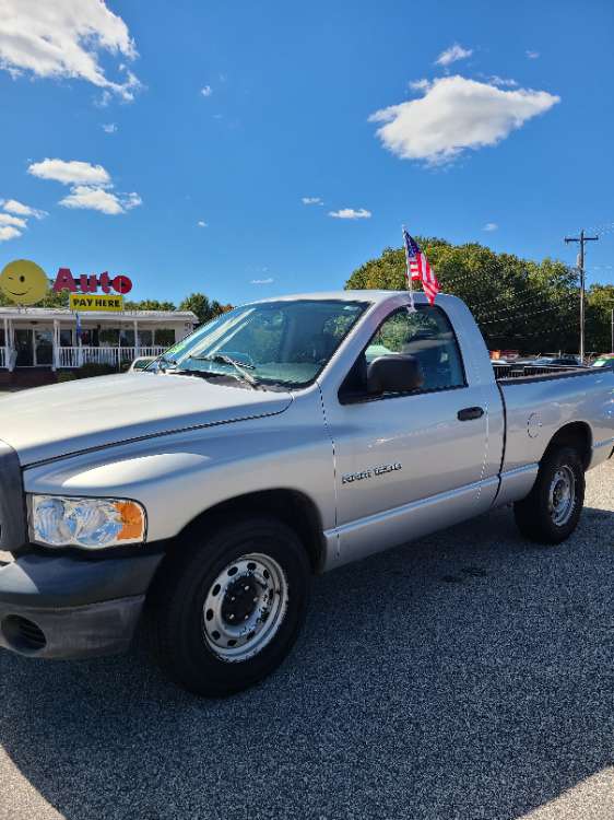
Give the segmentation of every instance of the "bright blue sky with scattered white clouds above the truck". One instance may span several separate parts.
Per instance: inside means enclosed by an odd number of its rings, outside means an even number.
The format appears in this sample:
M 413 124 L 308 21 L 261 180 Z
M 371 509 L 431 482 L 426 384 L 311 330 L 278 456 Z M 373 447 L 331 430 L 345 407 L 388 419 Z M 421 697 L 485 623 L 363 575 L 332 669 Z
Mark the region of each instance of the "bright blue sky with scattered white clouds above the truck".
M 239 303 L 340 288 L 401 223 L 568 262 L 604 226 L 614 282 L 607 0 L 40 5 L 0 20 L 0 267 Z

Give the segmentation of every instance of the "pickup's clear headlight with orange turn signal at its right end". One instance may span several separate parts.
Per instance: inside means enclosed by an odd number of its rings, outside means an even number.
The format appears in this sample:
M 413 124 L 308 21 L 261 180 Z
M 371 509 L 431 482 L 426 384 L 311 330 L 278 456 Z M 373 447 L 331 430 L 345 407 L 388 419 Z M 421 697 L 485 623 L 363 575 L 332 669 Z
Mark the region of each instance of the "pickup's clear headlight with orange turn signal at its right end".
M 145 540 L 145 511 L 123 499 L 29 496 L 29 538 L 49 547 L 99 550 Z

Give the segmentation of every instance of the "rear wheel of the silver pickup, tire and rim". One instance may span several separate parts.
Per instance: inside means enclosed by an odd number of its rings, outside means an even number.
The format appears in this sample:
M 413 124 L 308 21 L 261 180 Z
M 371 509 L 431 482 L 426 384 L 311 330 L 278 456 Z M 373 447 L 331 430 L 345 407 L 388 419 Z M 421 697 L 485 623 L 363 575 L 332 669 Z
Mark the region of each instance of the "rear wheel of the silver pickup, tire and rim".
M 578 526 L 585 504 L 585 467 L 568 445 L 544 456 L 529 495 L 513 505 L 522 535 L 538 543 L 560 543 Z

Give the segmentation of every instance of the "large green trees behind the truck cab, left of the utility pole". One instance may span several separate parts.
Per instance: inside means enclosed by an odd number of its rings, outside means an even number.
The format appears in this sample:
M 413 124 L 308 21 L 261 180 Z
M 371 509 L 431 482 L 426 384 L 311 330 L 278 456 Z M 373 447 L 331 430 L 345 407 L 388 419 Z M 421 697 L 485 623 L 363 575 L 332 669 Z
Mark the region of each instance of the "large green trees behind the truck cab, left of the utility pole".
M 535 262 L 495 254 L 479 243 L 452 245 L 436 237 L 417 241 L 441 290 L 469 305 L 491 349 L 578 349 L 578 278 L 574 269 L 548 258 Z M 404 290 L 404 250 L 386 248 L 380 257 L 357 268 L 345 286 Z

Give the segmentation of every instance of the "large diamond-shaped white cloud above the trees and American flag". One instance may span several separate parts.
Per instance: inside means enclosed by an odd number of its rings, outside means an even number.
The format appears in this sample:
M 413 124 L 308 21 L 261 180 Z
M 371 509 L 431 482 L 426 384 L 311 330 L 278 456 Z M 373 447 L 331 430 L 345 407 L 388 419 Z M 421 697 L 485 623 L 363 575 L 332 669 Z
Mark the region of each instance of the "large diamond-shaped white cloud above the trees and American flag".
M 503 91 L 457 74 L 435 80 L 422 97 L 376 112 L 369 121 L 383 124 L 377 136 L 395 156 L 437 165 L 468 148 L 496 145 L 559 101 L 546 91 Z

